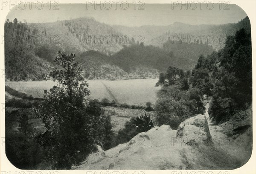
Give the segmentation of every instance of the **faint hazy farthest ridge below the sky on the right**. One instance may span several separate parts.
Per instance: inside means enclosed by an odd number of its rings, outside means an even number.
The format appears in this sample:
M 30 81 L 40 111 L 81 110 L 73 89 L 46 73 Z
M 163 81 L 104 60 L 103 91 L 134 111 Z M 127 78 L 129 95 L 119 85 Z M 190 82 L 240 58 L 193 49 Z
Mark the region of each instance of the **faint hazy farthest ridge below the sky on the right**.
M 122 31 L 122 33 L 129 37 L 136 35 L 138 41 L 141 40 L 139 36 L 143 35 L 145 45 L 162 47 L 163 43 L 168 41 L 169 37 L 174 41 L 181 38 L 187 43 L 194 43 L 194 39 L 196 41 L 197 39 L 202 39 L 202 43 L 204 44 L 208 38 L 212 47 L 218 50 L 224 47 L 227 35 L 234 35 L 241 28 L 250 32 L 250 20 L 249 17 L 245 17 L 238 23 L 227 23 L 223 25 L 189 25 L 175 22 L 169 26 L 115 26 L 115 28 L 117 31 Z M 178 38 L 176 38 L 176 35 Z M 214 41 L 212 38 L 214 38 Z

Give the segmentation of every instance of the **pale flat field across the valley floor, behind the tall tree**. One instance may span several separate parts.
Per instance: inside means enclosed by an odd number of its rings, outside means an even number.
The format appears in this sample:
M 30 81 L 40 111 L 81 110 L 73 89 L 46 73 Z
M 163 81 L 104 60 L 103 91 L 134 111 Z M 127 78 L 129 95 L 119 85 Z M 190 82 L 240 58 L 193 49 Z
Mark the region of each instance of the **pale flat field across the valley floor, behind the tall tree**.
M 107 98 L 110 101 L 116 100 L 119 103 L 143 104 L 146 102 L 155 103 L 157 90 L 155 87 L 158 79 L 133 79 L 117 81 L 87 81 L 91 92 L 91 99 Z M 42 98 L 44 90 L 49 90 L 57 83 L 54 81 L 6 81 L 6 85 L 19 92 L 27 93 L 33 97 Z

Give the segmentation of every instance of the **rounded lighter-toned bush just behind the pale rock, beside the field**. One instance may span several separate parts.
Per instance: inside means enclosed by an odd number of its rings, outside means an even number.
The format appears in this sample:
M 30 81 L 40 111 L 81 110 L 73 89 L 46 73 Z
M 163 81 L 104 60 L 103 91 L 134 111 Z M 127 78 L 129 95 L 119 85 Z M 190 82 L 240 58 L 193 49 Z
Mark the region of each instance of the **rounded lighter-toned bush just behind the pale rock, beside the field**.
M 198 89 L 182 91 L 176 85 L 171 85 L 163 87 L 157 96 L 155 110 L 158 125 L 170 125 L 172 129 L 177 129 L 185 119 L 204 113 Z

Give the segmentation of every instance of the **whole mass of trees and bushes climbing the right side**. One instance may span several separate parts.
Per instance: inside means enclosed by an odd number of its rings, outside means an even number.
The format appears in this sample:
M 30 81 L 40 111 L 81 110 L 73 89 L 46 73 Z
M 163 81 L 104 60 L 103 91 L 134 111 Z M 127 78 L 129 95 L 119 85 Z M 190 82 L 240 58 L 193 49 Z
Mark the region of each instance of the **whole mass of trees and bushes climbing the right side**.
M 155 105 L 159 125 L 176 129 L 186 118 L 204 113 L 203 96 L 212 98 L 209 116 L 214 122 L 229 120 L 252 103 L 251 34 L 241 29 L 228 36 L 223 49 L 199 57 L 191 74 L 169 67 L 157 85 L 162 86 Z

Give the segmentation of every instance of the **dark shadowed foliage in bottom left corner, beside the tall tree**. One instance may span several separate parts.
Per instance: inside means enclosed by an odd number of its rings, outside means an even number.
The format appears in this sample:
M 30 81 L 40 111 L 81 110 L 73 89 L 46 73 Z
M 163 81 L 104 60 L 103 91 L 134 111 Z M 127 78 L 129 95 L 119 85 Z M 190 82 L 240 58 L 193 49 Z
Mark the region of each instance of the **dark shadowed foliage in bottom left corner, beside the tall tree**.
M 6 156 L 20 169 L 36 169 L 44 161 L 44 150 L 35 140 L 36 132 L 29 122 L 29 112 L 35 114 L 33 110 L 6 108 Z

